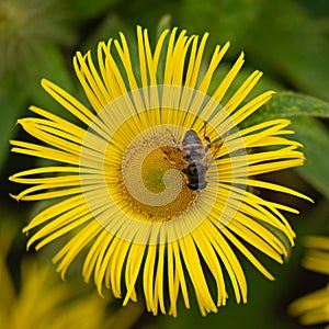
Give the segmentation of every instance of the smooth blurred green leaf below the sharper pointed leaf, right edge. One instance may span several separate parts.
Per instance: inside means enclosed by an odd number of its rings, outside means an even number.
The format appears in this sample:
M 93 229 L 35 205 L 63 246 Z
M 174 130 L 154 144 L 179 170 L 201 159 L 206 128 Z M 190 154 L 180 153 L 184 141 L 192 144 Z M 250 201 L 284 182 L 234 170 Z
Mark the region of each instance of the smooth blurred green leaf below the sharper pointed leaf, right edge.
M 295 117 L 291 127 L 295 139 L 304 145 L 306 161 L 296 171 L 310 185 L 329 198 L 329 132 L 315 117 Z

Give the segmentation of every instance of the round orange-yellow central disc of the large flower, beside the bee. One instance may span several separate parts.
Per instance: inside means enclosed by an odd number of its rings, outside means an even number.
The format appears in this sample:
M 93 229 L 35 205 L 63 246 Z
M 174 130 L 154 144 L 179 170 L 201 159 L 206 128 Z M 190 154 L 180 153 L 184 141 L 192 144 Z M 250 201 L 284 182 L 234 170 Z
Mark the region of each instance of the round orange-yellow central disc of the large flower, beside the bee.
M 137 138 L 127 148 L 118 180 L 124 211 L 143 215 L 146 220 L 163 222 L 179 217 L 194 204 L 197 194 L 186 186 L 180 151 L 167 146 L 170 143 L 168 136 L 154 136 Z

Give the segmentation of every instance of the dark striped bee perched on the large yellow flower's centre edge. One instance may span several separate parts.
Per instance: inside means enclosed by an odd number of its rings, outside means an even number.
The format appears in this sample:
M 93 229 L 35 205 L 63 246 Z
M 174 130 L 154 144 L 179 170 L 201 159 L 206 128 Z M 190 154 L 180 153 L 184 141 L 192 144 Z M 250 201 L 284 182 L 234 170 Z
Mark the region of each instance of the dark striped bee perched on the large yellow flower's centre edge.
M 200 191 L 206 188 L 207 170 L 213 161 L 207 154 L 213 146 L 213 143 L 211 138 L 206 136 L 206 122 L 204 123 L 203 137 L 207 141 L 206 145 L 203 144 L 195 131 L 190 129 L 185 133 L 182 139 L 182 147 L 180 147 L 172 136 L 173 146 L 181 152 L 181 163 L 174 161 L 169 152 L 162 148 L 168 159 L 171 160 L 171 162 L 174 162 L 174 164 L 183 172 L 186 180 L 186 186 L 193 191 Z M 216 155 L 223 145 L 223 140 L 216 139 L 215 141 Z

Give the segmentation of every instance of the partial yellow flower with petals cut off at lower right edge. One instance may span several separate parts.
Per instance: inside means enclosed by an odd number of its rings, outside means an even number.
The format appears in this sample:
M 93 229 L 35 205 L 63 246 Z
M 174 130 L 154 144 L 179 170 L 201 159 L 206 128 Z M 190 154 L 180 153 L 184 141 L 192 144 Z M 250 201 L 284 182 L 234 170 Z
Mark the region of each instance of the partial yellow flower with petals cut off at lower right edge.
M 329 238 L 307 237 L 305 245 L 309 250 L 307 250 L 303 265 L 310 271 L 329 275 Z M 299 317 L 303 325 L 329 322 L 329 283 L 326 287 L 292 303 L 288 313 Z

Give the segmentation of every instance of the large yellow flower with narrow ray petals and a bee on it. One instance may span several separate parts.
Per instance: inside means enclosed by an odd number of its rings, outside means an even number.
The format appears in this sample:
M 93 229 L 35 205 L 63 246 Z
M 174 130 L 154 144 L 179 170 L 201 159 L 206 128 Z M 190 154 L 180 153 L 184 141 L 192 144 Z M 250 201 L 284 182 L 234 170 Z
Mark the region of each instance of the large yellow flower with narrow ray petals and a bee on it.
M 236 251 L 273 280 L 248 246 L 282 263 L 286 241 L 293 246 L 295 235 L 281 211 L 298 213 L 247 188 L 306 197 L 256 178 L 300 166 L 300 144 L 283 136 L 293 133 L 285 129 L 287 120 L 238 129 L 273 92 L 243 103 L 262 76 L 254 71 L 223 101 L 243 54 L 222 81 L 214 81 L 229 44 L 217 46 L 204 67 L 207 37 L 166 30 L 152 49 L 148 32 L 138 26 L 138 54 L 131 55 L 122 33 L 99 44 L 98 66 L 90 53 L 77 53 L 75 69 L 91 107 L 47 80 L 42 86 L 80 123 L 32 106 L 41 117 L 19 123 L 43 145 L 12 141 L 13 151 L 59 162 L 11 177 L 32 184 L 18 201 L 59 198 L 24 228 L 38 228 L 27 246 L 37 242 L 39 249 L 69 236 L 54 258 L 63 276 L 88 249 L 87 282 L 93 275 L 100 294 L 105 285 L 126 305 L 137 299 L 140 279 L 147 309 L 155 315 L 177 316 L 180 294 L 189 308 L 189 281 L 202 315 L 216 313 L 228 297 L 224 271 L 237 303 L 246 303 Z M 215 302 L 205 272 L 216 282 Z

